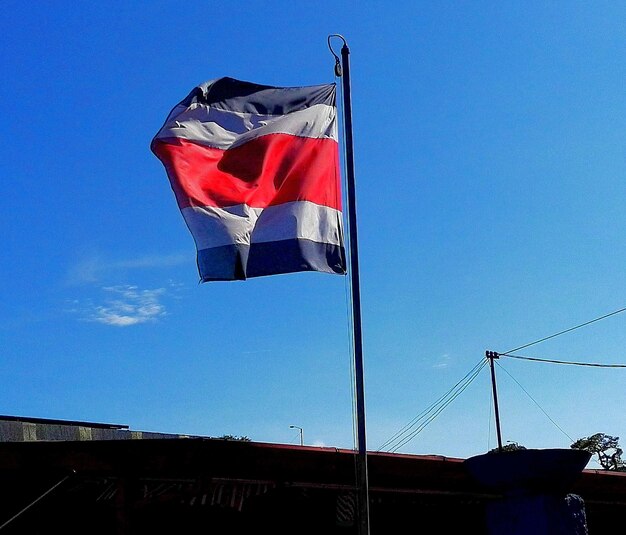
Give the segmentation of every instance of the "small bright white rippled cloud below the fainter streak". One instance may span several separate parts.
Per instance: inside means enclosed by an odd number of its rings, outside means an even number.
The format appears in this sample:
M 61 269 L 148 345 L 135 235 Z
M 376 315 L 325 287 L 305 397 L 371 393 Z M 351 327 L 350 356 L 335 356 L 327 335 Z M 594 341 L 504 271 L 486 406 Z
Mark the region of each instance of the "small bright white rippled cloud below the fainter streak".
M 166 288 L 142 290 L 137 286 L 107 286 L 102 288 L 109 296 L 102 305 L 91 304 L 87 311 L 87 320 L 128 327 L 140 323 L 154 322 L 166 315 L 165 305 L 161 302 L 166 295 Z

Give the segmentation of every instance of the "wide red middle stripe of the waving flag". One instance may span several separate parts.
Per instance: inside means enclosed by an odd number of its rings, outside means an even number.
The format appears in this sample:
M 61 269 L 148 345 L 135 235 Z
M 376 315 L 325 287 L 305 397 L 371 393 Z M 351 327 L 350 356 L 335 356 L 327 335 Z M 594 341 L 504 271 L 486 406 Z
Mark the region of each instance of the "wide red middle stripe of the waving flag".
M 181 209 L 310 201 L 341 210 L 333 139 L 271 134 L 221 150 L 170 138 L 155 140 L 152 150 L 167 169 Z

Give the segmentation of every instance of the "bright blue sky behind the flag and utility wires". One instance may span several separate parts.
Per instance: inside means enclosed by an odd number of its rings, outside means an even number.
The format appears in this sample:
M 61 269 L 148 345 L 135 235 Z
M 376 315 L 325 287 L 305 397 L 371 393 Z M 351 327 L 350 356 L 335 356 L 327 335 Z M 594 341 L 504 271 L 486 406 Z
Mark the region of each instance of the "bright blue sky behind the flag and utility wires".
M 352 446 L 346 284 L 198 285 L 149 143 L 198 83 L 352 51 L 368 445 L 506 351 L 626 305 L 616 2 L 18 2 L 0 22 L 0 413 Z M 626 361 L 626 314 L 529 348 Z M 502 365 L 626 442 L 626 370 Z M 505 440 L 568 447 L 500 372 Z M 403 451 L 494 447 L 487 370 Z

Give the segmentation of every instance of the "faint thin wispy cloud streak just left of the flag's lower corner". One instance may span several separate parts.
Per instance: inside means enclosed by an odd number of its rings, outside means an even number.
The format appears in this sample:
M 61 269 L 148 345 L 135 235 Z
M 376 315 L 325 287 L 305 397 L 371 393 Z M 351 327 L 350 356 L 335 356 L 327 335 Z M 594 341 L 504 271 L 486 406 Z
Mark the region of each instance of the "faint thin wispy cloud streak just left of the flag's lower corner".
M 70 267 L 66 282 L 70 285 L 93 284 L 122 270 L 168 268 L 189 261 L 188 254 L 143 255 L 114 260 L 107 259 L 101 254 L 92 253 L 84 256 Z

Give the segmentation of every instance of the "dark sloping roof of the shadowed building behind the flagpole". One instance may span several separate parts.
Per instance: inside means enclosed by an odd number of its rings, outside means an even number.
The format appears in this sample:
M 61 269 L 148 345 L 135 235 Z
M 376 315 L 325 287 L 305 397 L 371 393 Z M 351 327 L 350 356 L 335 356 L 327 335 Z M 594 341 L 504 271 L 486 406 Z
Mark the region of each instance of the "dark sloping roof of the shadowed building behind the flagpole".
M 207 438 L 0 443 L 0 473 L 70 473 L 146 479 L 223 479 L 309 488 L 354 487 L 352 450 Z M 493 496 L 463 459 L 369 453 L 373 493 Z M 573 491 L 585 500 L 626 505 L 626 473 L 585 470 Z

